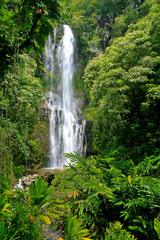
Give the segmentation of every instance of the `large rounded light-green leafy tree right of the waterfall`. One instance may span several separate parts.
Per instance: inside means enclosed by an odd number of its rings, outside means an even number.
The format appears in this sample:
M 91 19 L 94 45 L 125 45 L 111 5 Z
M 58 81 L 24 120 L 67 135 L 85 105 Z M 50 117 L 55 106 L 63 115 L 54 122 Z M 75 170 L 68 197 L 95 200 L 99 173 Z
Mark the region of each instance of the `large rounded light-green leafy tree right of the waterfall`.
M 159 151 L 159 38 L 152 37 L 158 19 L 155 1 L 148 15 L 131 24 L 125 36 L 115 39 L 85 70 L 85 112 L 93 122 L 96 151 L 121 145 L 135 162 Z

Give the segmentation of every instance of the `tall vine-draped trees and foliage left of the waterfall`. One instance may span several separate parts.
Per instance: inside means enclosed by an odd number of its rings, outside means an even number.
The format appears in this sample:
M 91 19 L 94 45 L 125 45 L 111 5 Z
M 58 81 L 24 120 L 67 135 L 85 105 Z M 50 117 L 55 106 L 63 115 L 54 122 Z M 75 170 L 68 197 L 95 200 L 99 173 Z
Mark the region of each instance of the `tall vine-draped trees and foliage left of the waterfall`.
M 53 31 L 60 11 L 57 0 L 2 0 L 0 4 L 2 187 L 14 180 L 18 173 L 15 166 L 22 165 L 24 170 L 23 166 L 40 165 L 44 158 L 42 137 L 40 134 L 36 137 L 37 125 L 39 129 L 44 126 L 37 114 L 37 105 L 43 97 L 39 76 L 45 39 Z M 17 178 L 23 174 L 20 172 Z

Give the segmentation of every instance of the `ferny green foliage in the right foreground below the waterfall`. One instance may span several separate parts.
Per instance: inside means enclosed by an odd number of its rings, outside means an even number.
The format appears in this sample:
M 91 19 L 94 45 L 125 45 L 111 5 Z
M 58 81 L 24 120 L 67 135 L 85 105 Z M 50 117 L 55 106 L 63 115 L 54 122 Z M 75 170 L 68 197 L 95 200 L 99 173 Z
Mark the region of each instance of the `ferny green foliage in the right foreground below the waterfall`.
M 67 156 L 71 163 L 65 176 L 58 174 L 52 184 L 56 195 L 57 191 L 68 195 L 62 198 L 94 239 L 158 240 L 160 180 L 155 173 L 160 157 L 146 158 L 135 166 L 116 156 L 83 161 L 77 153 Z

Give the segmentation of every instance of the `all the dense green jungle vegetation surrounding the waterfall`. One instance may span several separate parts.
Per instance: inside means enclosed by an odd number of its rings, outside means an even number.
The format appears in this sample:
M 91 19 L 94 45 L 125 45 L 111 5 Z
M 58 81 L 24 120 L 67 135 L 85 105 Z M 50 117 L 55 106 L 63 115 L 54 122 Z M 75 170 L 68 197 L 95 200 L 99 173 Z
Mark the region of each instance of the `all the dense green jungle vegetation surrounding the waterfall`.
M 13 190 L 48 152 L 39 116 L 48 34 L 69 24 L 87 157 Z M 160 239 L 159 0 L 0 0 L 0 239 Z M 59 238 L 60 239 L 60 238 Z

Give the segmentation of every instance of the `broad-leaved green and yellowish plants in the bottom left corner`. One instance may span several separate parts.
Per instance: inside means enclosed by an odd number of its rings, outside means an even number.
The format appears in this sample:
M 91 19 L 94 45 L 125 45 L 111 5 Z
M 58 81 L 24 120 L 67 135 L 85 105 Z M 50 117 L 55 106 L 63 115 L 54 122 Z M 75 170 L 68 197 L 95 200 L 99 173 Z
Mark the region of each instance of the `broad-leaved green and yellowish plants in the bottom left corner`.
M 43 239 L 43 225 L 51 224 L 63 206 L 54 201 L 52 187 L 47 182 L 35 179 L 29 186 L 29 193 L 22 189 L 5 191 L 0 198 L 1 239 Z

